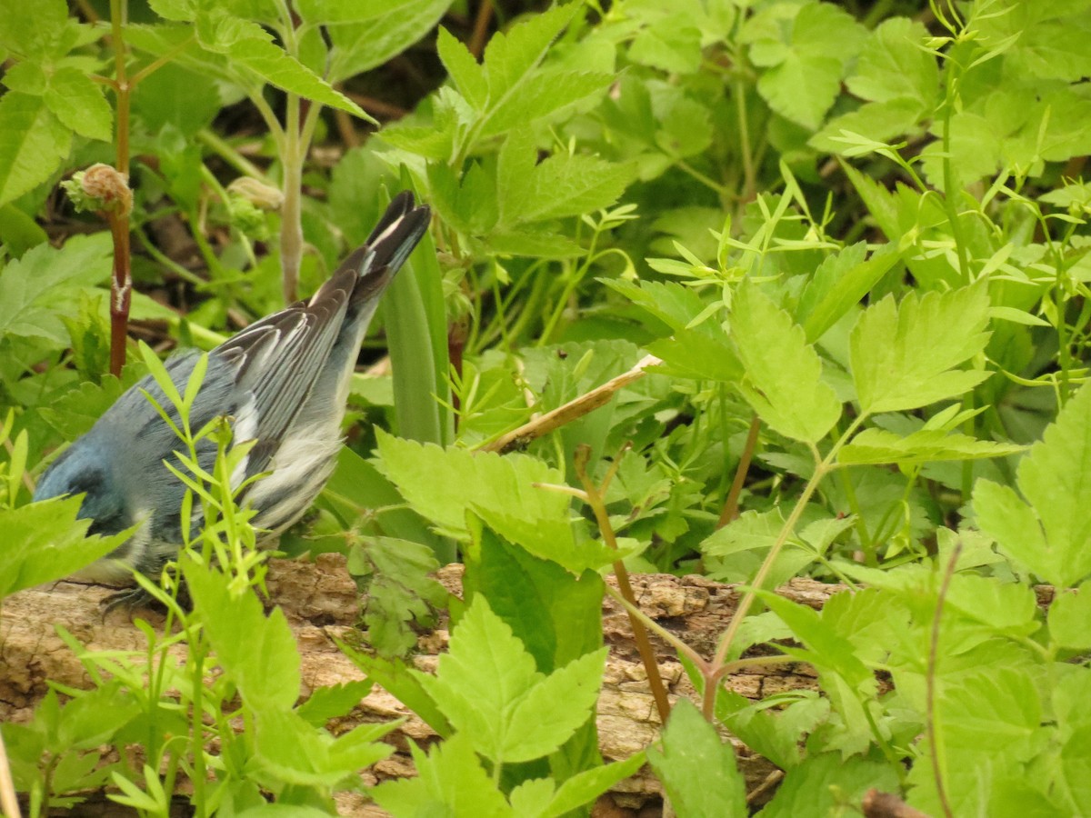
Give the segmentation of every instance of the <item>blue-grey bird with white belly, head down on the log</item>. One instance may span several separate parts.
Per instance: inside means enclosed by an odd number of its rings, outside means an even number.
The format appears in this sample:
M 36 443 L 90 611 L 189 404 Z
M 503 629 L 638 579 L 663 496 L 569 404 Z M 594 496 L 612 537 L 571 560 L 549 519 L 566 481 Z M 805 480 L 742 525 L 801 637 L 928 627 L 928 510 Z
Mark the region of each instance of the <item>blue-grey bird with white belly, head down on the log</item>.
M 415 206 L 411 193 L 400 193 L 368 243 L 309 301 L 251 324 L 208 353 L 191 428 L 228 416 L 235 441 L 255 441 L 232 483 L 268 472 L 247 488 L 242 502 L 256 512 L 253 525 L 271 536 L 307 512 L 333 472 L 360 344 L 383 290 L 429 219 L 427 206 Z M 197 358 L 190 352 L 167 361 L 179 393 Z M 130 568 L 157 579 L 182 543 L 185 486 L 164 466 L 165 460 L 179 465 L 172 453 L 181 442 L 142 389 L 177 422 L 177 409 L 148 375 L 50 465 L 34 493 L 36 501 L 84 494 L 79 516 L 92 521 L 89 533 L 139 526 L 120 548 L 76 575 L 81 579 L 117 584 L 131 579 Z M 214 443 L 199 444 L 203 468 L 211 470 L 215 456 Z M 193 530 L 201 524 L 200 509 L 194 514 Z

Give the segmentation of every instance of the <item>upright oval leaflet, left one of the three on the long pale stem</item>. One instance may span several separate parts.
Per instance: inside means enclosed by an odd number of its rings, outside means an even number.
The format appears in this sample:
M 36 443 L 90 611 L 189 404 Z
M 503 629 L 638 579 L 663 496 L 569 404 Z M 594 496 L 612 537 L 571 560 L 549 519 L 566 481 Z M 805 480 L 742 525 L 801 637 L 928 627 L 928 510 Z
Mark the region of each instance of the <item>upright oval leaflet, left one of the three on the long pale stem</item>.
M 815 443 L 841 417 L 841 401 L 822 380 L 822 361 L 803 327 L 744 282 L 731 310 L 731 337 L 746 370 L 740 385 L 758 416 L 781 434 Z

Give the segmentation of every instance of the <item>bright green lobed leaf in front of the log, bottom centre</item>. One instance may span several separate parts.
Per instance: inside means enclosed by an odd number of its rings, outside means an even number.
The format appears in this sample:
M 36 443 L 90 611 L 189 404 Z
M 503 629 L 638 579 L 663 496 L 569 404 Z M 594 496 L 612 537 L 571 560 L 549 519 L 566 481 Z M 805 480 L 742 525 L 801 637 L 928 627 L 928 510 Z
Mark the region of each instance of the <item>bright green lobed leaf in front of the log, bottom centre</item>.
M 604 661 L 602 648 L 542 675 L 478 597 L 455 627 L 436 675 L 416 675 L 457 732 L 487 758 L 505 763 L 549 755 L 587 721 Z M 565 707 L 558 709 L 556 701 Z

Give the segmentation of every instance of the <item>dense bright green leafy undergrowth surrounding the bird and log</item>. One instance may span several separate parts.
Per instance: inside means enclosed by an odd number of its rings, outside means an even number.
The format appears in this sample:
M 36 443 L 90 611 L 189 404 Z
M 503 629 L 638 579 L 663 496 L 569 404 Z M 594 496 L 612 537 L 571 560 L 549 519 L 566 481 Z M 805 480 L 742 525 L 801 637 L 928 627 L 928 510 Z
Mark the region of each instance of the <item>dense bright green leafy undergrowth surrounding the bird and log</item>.
M 441 736 L 370 791 L 397 816 L 586 814 L 645 760 L 675 814 L 747 815 L 717 727 L 783 770 L 764 816 L 870 790 L 1091 811 L 1091 2 L 38 5 L 0 0 L 0 596 L 117 544 L 29 497 L 159 371 L 115 348 L 108 373 L 130 243 L 134 334 L 208 349 L 313 291 L 389 194 L 435 219 L 376 322 L 393 374 L 356 376 L 338 469 L 281 540 L 370 588 L 369 649 L 345 649 L 371 682 L 297 703 L 241 453 L 185 425 L 182 453 L 221 449 L 187 476 L 193 610 L 177 574 L 149 586 L 169 635 L 71 640 L 96 686 L 3 725 L 32 815 L 105 785 L 164 814 L 180 774 L 200 815 L 328 814 L 391 751 L 392 724 L 326 729 L 371 683 Z M 365 111 L 392 121 L 360 145 Z M 88 175 L 67 187 L 100 215 L 77 216 L 57 183 L 97 161 L 131 204 L 88 203 Z M 456 557 L 425 674 L 401 657 Z M 626 570 L 745 592 L 714 654 L 672 642 L 702 700 L 603 766 L 602 577 Z M 770 593 L 801 575 L 848 590 Z M 820 696 L 724 685 L 774 640 Z M 103 763 L 132 744 L 140 769 Z

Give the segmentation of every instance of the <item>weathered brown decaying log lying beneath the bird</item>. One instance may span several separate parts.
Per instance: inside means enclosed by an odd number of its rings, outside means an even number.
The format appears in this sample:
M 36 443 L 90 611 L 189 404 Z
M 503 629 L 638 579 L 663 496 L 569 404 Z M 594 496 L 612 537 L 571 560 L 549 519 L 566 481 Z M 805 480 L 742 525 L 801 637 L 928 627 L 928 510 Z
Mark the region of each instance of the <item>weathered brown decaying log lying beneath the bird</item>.
M 460 566 L 448 566 L 441 581 L 460 593 Z M 733 588 L 700 577 L 663 574 L 634 575 L 634 591 L 640 608 L 660 625 L 676 634 L 705 655 L 711 655 L 718 635 L 727 626 L 738 601 Z M 302 657 L 304 696 L 316 687 L 362 678 L 360 671 L 336 648 L 334 637 L 352 628 L 358 612 L 356 587 L 345 570 L 344 560 L 326 554 L 316 563 L 274 561 L 268 575 L 273 599 L 284 609 L 299 641 Z M 794 579 L 780 593 L 796 602 L 820 608 L 837 586 Z M 89 686 L 89 678 L 75 657 L 57 636 L 62 625 L 92 649 L 143 650 L 144 637 L 129 622 L 129 615 L 113 611 L 103 617 L 98 603 L 109 589 L 74 582 L 58 582 L 17 593 L 0 610 L 0 720 L 23 722 L 32 717 L 35 703 L 47 690 L 46 679 L 75 687 Z M 141 612 L 153 626 L 161 627 L 155 613 Z M 610 647 L 606 679 L 599 699 L 598 727 L 602 755 L 624 758 L 647 746 L 657 735 L 659 719 L 648 691 L 644 666 L 625 612 L 608 599 L 603 609 L 603 631 Z M 447 643 L 446 622 L 420 637 L 416 663 L 433 670 L 436 654 Z M 671 698 L 694 697 L 675 653 L 657 640 L 660 671 Z M 743 696 L 760 698 L 795 688 L 815 687 L 813 671 L 801 664 L 770 664 L 747 667 L 728 684 Z M 337 732 L 361 722 L 408 717 L 388 737 L 397 748 L 389 759 L 367 774 L 371 781 L 412 773 L 407 739 L 428 743 L 432 731 L 400 702 L 380 687 L 373 688 L 357 709 L 334 725 Z M 757 790 L 776 768 L 764 758 L 735 743 L 747 790 Z M 652 809 L 661 798 L 656 779 L 647 771 L 622 782 L 600 804 L 602 816 L 634 816 L 635 810 Z M 374 807 L 347 799 L 343 815 L 382 815 Z

